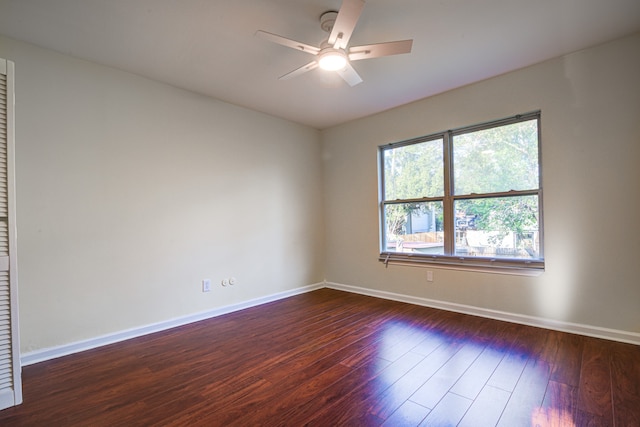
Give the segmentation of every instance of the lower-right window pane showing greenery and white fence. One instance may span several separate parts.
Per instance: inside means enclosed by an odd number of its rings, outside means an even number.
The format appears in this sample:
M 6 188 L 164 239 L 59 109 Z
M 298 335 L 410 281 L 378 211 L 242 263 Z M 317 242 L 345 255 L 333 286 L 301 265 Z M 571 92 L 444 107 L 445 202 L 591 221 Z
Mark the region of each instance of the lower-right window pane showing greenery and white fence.
M 457 256 L 540 258 L 538 196 L 457 200 Z

